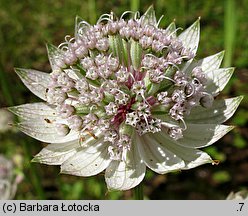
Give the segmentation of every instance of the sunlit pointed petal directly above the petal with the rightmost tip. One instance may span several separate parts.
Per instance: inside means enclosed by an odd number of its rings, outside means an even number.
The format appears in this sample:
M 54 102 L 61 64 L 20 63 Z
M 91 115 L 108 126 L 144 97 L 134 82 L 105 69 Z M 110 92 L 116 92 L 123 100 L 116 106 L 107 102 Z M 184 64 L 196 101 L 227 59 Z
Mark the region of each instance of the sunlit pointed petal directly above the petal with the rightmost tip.
M 206 90 L 214 95 L 224 89 L 233 74 L 234 68 L 221 68 L 206 73 L 210 82 L 207 84 Z

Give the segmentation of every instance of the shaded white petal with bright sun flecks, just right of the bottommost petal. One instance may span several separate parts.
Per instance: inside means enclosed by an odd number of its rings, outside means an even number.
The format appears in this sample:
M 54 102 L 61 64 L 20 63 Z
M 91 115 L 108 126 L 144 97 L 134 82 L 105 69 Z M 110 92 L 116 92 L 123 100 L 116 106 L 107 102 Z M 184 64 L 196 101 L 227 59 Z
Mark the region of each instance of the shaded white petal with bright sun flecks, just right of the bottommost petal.
M 145 164 L 159 174 L 179 170 L 185 166 L 181 158 L 153 139 L 151 134 L 138 137 L 137 145 Z

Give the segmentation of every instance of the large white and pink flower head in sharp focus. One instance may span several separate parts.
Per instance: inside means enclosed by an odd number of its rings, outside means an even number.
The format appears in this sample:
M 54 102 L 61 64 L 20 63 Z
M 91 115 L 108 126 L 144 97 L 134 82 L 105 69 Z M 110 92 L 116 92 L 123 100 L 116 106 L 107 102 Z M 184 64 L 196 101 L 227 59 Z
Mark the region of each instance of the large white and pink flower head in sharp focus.
M 215 99 L 234 69 L 219 69 L 224 52 L 194 59 L 199 19 L 177 36 L 153 7 L 127 13 L 93 26 L 77 17 L 75 37 L 47 45 L 50 74 L 16 69 L 45 102 L 10 108 L 21 131 L 51 143 L 33 161 L 77 176 L 105 170 L 110 190 L 135 187 L 146 166 L 165 174 L 214 163 L 199 148 L 233 128 L 222 123 L 242 100 Z

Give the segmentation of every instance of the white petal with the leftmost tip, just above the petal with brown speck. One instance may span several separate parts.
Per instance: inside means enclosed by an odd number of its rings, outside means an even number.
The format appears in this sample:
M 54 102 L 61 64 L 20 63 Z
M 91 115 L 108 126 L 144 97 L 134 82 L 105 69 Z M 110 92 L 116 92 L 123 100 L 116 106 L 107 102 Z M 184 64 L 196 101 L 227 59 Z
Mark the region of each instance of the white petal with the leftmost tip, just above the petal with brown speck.
M 8 108 L 15 115 L 19 116 L 22 120 L 35 120 L 35 119 L 48 119 L 54 121 L 57 119 L 56 111 L 52 106 L 46 103 L 30 103 L 13 106 Z

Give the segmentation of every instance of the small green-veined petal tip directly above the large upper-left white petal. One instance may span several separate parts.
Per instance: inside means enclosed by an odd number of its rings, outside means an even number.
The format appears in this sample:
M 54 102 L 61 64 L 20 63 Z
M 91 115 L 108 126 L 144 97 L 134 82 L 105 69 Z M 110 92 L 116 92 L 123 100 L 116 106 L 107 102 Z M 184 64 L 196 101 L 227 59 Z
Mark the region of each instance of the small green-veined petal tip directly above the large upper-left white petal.
M 52 44 L 47 44 L 46 46 L 51 68 L 52 70 L 57 70 L 59 68 L 57 65 L 58 62 L 63 60 L 63 51 Z

